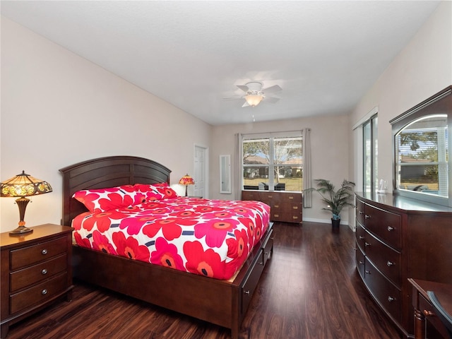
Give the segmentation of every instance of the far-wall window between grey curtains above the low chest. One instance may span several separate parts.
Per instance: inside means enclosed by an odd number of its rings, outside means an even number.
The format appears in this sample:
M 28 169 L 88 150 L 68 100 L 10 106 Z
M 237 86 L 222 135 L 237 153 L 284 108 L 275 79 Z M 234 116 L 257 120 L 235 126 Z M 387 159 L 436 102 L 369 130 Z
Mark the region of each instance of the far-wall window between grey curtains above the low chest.
M 244 135 L 243 188 L 302 191 L 302 135 L 271 133 Z

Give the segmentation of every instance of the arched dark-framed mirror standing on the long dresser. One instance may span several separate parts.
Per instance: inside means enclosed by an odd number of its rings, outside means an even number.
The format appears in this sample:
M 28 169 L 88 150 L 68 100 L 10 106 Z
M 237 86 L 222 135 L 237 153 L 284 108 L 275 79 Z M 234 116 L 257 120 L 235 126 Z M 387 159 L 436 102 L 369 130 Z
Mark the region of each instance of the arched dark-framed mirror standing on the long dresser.
M 451 87 L 421 102 L 393 124 L 396 194 L 452 206 Z

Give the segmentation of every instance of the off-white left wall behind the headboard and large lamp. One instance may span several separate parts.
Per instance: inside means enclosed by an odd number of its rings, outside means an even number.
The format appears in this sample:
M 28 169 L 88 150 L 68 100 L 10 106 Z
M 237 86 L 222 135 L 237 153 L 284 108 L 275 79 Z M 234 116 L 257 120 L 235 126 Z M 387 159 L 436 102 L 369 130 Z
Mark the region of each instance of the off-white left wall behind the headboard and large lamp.
M 28 226 L 60 223 L 60 168 L 95 157 L 136 155 L 172 169 L 171 183 L 177 184 L 193 172 L 194 143 L 210 144 L 210 129 L 1 17 L 0 179 L 24 169 L 53 188 L 50 194 L 32 197 L 25 213 Z M 13 201 L 0 199 L 1 232 L 17 227 L 18 207 Z

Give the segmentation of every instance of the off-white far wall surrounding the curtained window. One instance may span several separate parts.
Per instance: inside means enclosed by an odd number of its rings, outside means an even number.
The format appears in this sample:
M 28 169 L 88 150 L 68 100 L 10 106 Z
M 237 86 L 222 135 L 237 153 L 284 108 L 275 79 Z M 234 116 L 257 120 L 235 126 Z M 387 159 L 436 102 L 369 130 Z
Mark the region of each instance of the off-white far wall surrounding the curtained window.
M 275 104 L 275 109 L 278 109 L 278 104 Z M 350 179 L 347 177 L 349 173 L 348 150 L 350 148 L 349 125 L 348 117 L 342 115 L 213 126 L 211 137 L 212 152 L 210 153 L 210 198 L 234 199 L 234 187 L 232 187 L 232 194 L 220 194 L 218 192 L 218 187 L 220 186 L 218 157 L 219 155 L 230 154 L 232 155 L 232 162 L 235 161 L 235 133 L 295 131 L 309 127 L 311 129 L 313 179 L 329 179 L 333 184 L 340 185 L 343 179 Z M 241 174 L 232 172 L 233 177 L 237 175 Z M 312 208 L 303 210 L 303 220 L 331 222 L 331 213 L 321 210 L 325 206 L 321 203 L 319 194 L 315 192 L 312 206 Z M 341 223 L 348 223 L 347 214 L 346 210 L 344 210 L 341 215 Z

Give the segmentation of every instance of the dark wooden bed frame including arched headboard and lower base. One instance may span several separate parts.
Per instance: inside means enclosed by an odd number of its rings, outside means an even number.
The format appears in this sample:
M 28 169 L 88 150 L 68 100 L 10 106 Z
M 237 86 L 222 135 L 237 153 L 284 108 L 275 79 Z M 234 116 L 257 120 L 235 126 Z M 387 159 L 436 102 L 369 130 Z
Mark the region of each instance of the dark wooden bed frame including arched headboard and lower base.
M 63 225 L 71 225 L 85 206 L 72 195 L 81 189 L 167 182 L 170 170 L 143 157 L 113 156 L 79 162 L 63 173 Z M 239 330 L 268 258 L 273 253 L 271 225 L 242 269 L 231 280 L 217 280 L 172 268 L 73 246 L 73 276 L 145 302 Z

